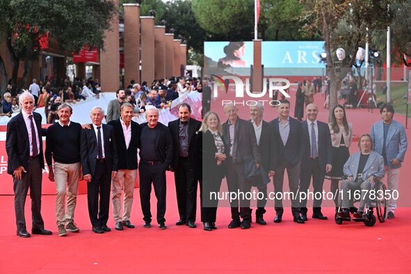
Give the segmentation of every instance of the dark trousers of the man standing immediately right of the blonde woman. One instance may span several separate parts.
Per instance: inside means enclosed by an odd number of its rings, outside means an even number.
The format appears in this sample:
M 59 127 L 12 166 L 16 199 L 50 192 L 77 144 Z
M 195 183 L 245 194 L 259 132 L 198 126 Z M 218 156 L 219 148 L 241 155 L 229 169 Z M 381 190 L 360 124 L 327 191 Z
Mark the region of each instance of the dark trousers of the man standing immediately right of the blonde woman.
M 227 161 L 227 173 L 225 177 L 227 178 L 228 191 L 234 193 L 247 193 L 251 190 L 251 185 L 244 179 L 244 163 L 232 163 L 232 161 Z M 240 204 L 240 211 L 239 211 Z M 243 220 L 251 220 L 251 209 L 250 200 L 239 199 L 232 200 L 231 205 L 231 217 L 243 218 Z

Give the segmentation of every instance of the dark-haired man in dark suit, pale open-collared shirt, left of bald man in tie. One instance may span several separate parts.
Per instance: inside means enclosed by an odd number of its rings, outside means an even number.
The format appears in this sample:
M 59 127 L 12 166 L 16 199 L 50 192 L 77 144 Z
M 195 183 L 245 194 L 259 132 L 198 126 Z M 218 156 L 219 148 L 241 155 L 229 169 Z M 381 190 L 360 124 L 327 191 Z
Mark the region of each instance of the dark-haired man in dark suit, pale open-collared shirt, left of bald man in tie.
M 291 212 L 293 213 L 293 220 L 296 223 L 304 223 L 300 217 L 300 210 L 298 209 L 298 199 L 296 197 L 298 192 L 298 181 L 300 179 L 300 164 L 304 154 L 304 136 L 303 127 L 301 123 L 289 116 L 290 102 L 287 99 L 281 99 L 280 105 L 277 106 L 278 118 L 270 122 L 274 126 L 275 136 L 275 175 L 273 178 L 274 190 L 276 193 L 282 193 L 282 185 L 284 181 L 284 170 L 287 169 L 289 177 L 289 188 L 292 193 L 291 198 Z M 276 194 L 277 197 L 277 194 Z M 274 223 L 280 223 L 282 220 L 282 200 L 275 200 L 276 216 Z

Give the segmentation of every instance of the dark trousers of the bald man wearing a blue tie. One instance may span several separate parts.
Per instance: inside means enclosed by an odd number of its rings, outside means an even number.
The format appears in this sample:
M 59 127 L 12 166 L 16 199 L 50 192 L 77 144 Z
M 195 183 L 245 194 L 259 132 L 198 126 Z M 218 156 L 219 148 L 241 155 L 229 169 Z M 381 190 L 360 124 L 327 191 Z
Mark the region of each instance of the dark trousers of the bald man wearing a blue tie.
M 314 202 L 312 211 L 314 213 L 321 212 L 324 177 L 325 170 L 320 167 L 319 157 L 316 157 L 316 159 L 310 158 L 308 161 L 306 160 L 301 164 L 300 193 L 307 194 L 312 178 L 312 186 L 314 187 Z M 300 212 L 307 213 L 307 195 L 301 196 Z

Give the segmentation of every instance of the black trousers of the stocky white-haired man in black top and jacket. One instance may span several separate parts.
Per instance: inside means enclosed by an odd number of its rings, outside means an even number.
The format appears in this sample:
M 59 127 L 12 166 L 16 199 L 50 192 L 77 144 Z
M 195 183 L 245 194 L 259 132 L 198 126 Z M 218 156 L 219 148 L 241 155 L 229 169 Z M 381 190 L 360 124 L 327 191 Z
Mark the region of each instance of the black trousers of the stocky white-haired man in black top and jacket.
M 147 166 L 140 161 L 138 168 L 140 175 L 140 202 L 143 210 L 143 220 L 148 223 L 152 221 L 150 211 L 150 195 L 152 184 L 157 198 L 157 223 L 164 223 L 166 219 L 166 165 L 158 163 L 154 166 Z

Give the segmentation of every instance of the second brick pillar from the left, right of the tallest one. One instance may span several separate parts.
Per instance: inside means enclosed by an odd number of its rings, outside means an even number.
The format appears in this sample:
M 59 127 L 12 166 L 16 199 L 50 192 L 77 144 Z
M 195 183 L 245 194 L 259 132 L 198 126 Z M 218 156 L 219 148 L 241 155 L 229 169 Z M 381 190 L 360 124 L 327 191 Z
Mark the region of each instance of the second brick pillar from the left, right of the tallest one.
M 140 5 L 123 3 L 124 7 L 124 86 L 131 79 L 140 83 Z

